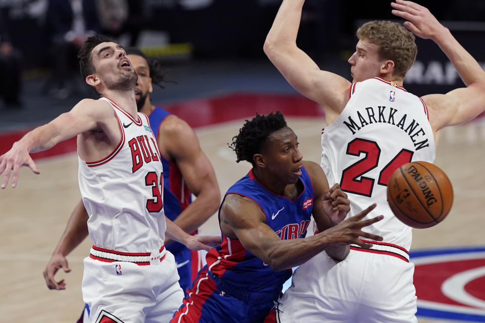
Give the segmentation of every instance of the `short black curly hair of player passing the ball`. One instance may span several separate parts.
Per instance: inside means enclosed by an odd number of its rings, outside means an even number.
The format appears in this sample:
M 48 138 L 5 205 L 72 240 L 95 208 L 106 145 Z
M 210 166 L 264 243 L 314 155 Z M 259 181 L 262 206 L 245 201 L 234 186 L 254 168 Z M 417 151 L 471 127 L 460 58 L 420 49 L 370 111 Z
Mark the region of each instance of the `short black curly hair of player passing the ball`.
M 256 113 L 256 117 L 251 121 L 246 120 L 243 128 L 239 129 L 239 134 L 232 138 L 232 143 L 229 145 L 229 148 L 236 152 L 236 162 L 246 160 L 255 166 L 253 156 L 261 152 L 273 132 L 284 127 L 286 127 L 286 121 L 279 111 L 267 116 Z

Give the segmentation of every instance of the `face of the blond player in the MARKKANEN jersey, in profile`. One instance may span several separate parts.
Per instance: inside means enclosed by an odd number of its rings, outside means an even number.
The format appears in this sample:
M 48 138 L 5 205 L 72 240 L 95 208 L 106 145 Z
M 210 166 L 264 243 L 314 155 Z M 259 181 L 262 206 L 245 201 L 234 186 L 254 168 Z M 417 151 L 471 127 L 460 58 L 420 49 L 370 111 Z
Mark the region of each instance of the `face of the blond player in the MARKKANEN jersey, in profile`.
M 359 40 L 355 52 L 349 59 L 350 72 L 354 82 L 362 82 L 380 76 L 385 60 L 379 59 L 379 46 L 367 40 Z

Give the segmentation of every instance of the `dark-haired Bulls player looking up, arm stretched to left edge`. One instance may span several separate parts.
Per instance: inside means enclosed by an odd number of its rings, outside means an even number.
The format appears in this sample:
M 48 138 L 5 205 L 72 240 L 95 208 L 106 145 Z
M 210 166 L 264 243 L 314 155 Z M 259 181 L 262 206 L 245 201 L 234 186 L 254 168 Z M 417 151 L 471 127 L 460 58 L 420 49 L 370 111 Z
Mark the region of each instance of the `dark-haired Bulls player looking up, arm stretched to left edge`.
M 101 35 L 79 51 L 81 74 L 101 96 L 83 99 L 0 156 L 2 188 L 19 168 L 39 171 L 30 152 L 77 135 L 79 188 L 93 242 L 84 259 L 82 293 L 92 322 L 166 322 L 183 292 L 165 234 L 192 250 L 213 238 L 191 236 L 163 212 L 163 168 L 147 115 L 138 113 L 137 75 L 125 50 Z

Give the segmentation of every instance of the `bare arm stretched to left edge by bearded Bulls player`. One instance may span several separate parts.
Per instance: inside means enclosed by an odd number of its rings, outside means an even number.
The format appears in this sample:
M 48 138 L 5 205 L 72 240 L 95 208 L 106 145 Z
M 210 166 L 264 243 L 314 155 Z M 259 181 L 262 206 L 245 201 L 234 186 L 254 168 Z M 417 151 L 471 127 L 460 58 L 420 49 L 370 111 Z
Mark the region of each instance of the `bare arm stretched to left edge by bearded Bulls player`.
M 29 167 L 35 174 L 40 173 L 29 153 L 47 150 L 63 140 L 103 127 L 109 118 L 114 118 L 113 110 L 107 104 L 102 100 L 81 100 L 70 112 L 35 128 L 15 142 L 9 151 L 0 156 L 0 175 L 5 173 L 1 187 L 7 186 L 11 173 L 12 187 L 17 186 L 22 166 Z

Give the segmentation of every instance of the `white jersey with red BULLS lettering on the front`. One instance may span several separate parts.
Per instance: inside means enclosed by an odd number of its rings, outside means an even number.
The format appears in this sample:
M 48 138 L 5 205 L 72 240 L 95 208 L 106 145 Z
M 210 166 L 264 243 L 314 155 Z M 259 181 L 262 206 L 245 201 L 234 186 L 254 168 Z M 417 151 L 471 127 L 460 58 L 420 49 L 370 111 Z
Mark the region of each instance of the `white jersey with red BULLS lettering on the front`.
M 113 101 L 121 140 L 107 157 L 79 157 L 79 188 L 95 246 L 122 252 L 160 250 L 165 239 L 163 169 L 146 115 L 132 117 Z

